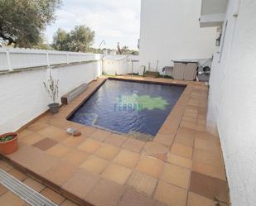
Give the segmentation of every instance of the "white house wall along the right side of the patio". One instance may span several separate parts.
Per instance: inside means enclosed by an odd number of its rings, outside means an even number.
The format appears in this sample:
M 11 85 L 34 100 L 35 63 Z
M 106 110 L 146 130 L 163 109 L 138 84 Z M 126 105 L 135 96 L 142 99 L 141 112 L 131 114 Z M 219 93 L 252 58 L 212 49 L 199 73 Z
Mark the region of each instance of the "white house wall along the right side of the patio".
M 233 14 L 239 5 L 239 16 Z M 210 76 L 208 119 L 217 125 L 233 206 L 256 205 L 256 1 L 230 0 L 223 55 Z M 223 40 L 223 38 L 222 38 Z M 221 47 L 220 47 L 221 48 Z M 220 60 L 220 62 L 219 62 Z

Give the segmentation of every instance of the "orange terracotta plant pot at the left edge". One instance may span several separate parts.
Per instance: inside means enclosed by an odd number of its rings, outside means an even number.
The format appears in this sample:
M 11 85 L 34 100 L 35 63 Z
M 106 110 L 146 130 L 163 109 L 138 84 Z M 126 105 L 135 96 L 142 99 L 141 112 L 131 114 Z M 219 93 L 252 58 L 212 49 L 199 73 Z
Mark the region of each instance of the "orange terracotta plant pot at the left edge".
M 0 139 L 4 138 L 4 137 L 8 137 L 8 136 L 12 136 L 14 137 L 12 140 L 9 141 L 0 141 L 0 153 L 7 155 L 7 154 L 11 154 L 14 151 L 17 151 L 17 133 L 14 132 L 10 132 L 10 133 L 6 133 L 6 134 L 2 134 L 0 136 Z

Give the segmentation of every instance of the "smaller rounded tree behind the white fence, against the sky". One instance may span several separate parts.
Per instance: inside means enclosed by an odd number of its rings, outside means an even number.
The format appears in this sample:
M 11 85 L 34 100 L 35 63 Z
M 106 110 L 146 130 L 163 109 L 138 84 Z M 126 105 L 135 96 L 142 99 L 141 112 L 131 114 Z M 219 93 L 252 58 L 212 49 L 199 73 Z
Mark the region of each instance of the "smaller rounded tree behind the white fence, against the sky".
M 53 38 L 53 48 L 56 50 L 82 51 L 91 50 L 94 43 L 94 31 L 87 26 L 75 26 L 69 33 L 58 29 Z

